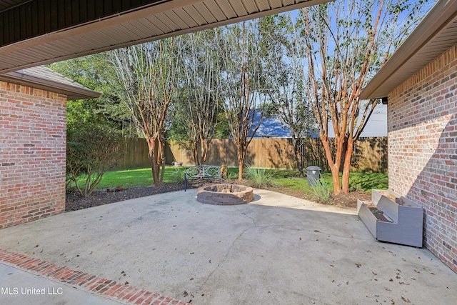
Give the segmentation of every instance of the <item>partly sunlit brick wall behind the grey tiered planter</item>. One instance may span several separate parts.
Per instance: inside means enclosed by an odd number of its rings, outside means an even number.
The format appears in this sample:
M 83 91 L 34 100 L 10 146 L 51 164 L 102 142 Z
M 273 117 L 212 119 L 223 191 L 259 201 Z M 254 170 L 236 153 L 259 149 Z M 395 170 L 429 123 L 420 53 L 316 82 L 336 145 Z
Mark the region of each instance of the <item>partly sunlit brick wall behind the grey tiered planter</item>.
M 457 271 L 457 45 L 391 92 L 389 189 L 421 204 L 424 244 Z

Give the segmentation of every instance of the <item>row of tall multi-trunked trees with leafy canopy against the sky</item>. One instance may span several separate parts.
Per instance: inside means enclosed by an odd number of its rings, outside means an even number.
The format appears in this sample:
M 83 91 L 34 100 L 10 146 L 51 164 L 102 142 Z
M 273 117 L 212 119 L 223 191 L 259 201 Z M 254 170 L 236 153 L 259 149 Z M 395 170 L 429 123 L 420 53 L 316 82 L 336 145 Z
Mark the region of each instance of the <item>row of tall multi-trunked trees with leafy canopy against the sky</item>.
M 144 136 L 155 183 L 166 136 L 189 141 L 197 164 L 206 161 L 211 139 L 232 136 L 241 179 L 261 124 L 254 116 L 267 114 L 290 129 L 301 173 L 298 148 L 318 131 L 334 191 L 347 192 L 354 142 L 378 104 L 359 99 L 361 89 L 432 3 L 337 0 L 50 66 L 103 93 L 69 101 L 69 122 Z

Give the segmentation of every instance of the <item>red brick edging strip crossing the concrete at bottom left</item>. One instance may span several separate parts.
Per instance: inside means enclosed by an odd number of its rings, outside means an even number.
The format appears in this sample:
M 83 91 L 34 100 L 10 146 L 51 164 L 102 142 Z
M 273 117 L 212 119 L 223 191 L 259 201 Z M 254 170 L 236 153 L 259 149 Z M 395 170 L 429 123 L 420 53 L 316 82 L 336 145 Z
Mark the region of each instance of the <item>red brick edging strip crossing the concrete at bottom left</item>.
M 59 266 L 31 256 L 18 254 L 0 249 L 0 261 L 31 271 L 31 273 L 46 276 L 78 289 L 90 291 L 92 294 L 103 296 L 114 301 L 136 305 L 186 305 L 188 303 L 171 299 L 155 292 L 139 289 L 129 284 L 121 284 L 109 279 L 86 274 L 68 267 Z

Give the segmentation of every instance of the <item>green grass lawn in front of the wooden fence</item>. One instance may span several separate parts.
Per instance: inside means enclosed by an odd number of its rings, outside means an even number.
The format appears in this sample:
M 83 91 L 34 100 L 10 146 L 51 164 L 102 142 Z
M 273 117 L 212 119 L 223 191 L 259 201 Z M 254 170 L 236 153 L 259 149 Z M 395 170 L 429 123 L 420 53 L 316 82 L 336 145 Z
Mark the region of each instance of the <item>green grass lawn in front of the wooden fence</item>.
M 311 192 L 306 179 L 296 179 L 298 171 L 267 169 L 272 176 L 273 183 L 290 191 Z M 322 172 L 322 179 L 326 181 L 329 189 L 333 189 L 333 181 L 330 172 Z M 229 168 L 229 177 L 238 178 L 238 168 Z M 179 182 L 184 179 L 184 167 L 167 166 L 165 168 L 164 182 Z M 108 171 L 104 174 L 98 189 L 106 189 L 122 185 L 124 189 L 132 186 L 149 186 L 153 184 L 150 168 L 129 169 L 121 171 Z M 371 189 L 387 189 L 387 174 L 380 173 L 351 173 L 350 185 L 359 191 L 371 191 Z

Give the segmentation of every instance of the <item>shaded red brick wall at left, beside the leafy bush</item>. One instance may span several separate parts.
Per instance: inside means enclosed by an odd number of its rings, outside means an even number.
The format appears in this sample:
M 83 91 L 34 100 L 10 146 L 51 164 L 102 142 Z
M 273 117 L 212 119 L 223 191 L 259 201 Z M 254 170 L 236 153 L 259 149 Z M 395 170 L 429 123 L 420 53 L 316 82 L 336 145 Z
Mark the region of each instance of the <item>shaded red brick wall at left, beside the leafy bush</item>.
M 65 209 L 66 96 L 0 81 L 0 228 Z

